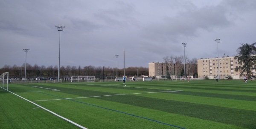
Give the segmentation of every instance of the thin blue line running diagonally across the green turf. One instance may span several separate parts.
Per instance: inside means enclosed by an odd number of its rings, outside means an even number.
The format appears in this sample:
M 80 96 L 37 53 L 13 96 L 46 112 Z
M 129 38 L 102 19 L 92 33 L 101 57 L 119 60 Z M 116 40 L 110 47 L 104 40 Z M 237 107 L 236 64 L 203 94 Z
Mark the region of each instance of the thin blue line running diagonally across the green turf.
M 23 89 L 23 88 L 21 88 L 21 89 Z M 29 89 L 26 89 L 26 90 L 29 90 Z M 32 90 L 29 90 L 29 91 L 32 91 Z M 38 92 L 38 93 L 45 94 L 45 95 L 50 95 L 50 94 L 43 93 L 43 92 Z M 56 96 L 56 95 L 51 95 L 51 96 L 59 97 L 59 96 Z M 66 99 L 66 100 L 71 100 L 71 101 L 78 102 L 78 103 L 83 103 L 83 104 L 90 105 L 90 106 L 99 107 L 99 108 L 102 108 L 102 109 L 107 109 L 107 110 L 114 111 L 114 112 L 119 112 L 119 113 L 126 114 L 126 115 L 131 115 L 131 116 L 134 116 L 134 117 L 137 117 L 137 118 L 143 118 L 143 119 L 146 119 L 146 120 L 151 120 L 151 121 L 154 121 L 154 122 L 157 122 L 157 123 L 162 123 L 162 124 L 165 124 L 167 126 L 176 127 L 176 128 L 179 128 L 179 129 L 185 129 L 185 128 L 182 128 L 182 127 L 179 127 L 179 126 L 174 126 L 174 125 L 171 125 L 171 124 L 168 124 L 168 123 L 163 123 L 163 122 L 160 122 L 160 121 L 157 121 L 157 120 L 144 118 L 144 117 L 141 117 L 141 116 L 137 116 L 137 115 L 133 115 L 133 114 L 129 114 L 129 113 L 113 110 L 113 109 L 108 109 L 108 108 L 105 108 L 105 107 L 102 107 L 102 106 L 96 106 L 96 105 L 93 105 L 93 104 L 84 103 L 84 102 L 80 102 L 80 101 L 76 101 L 76 100 L 72 100 L 72 99 L 68 99 L 68 98 L 64 98 L 64 97 L 59 97 L 59 98 L 63 98 L 63 99 Z

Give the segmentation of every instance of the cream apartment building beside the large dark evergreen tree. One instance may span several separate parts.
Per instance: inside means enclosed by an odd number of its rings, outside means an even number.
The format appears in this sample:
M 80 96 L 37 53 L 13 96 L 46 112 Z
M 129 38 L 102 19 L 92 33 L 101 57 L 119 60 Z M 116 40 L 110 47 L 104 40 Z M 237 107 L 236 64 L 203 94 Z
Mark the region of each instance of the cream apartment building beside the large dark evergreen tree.
M 235 71 L 237 67 L 241 67 L 241 65 L 234 57 L 202 58 L 198 60 L 198 77 L 207 76 L 210 79 L 214 79 L 218 77 L 219 73 L 220 79 L 227 79 L 229 76 L 233 77 L 233 79 L 241 79 L 240 71 Z M 255 76 L 255 70 L 253 71 L 253 76 Z

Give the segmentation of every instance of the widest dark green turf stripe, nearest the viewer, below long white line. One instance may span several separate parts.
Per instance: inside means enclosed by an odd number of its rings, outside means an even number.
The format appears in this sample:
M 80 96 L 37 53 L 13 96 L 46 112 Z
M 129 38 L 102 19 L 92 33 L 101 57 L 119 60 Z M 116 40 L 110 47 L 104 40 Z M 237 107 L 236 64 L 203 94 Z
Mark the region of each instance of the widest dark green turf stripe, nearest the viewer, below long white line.
M 154 109 L 163 112 L 186 115 L 193 118 L 200 118 L 204 120 L 211 120 L 215 122 L 246 127 L 249 129 L 255 129 L 256 127 L 256 111 L 187 103 L 174 100 L 163 100 L 134 95 L 96 98 L 133 106 L 140 106 L 143 108 Z

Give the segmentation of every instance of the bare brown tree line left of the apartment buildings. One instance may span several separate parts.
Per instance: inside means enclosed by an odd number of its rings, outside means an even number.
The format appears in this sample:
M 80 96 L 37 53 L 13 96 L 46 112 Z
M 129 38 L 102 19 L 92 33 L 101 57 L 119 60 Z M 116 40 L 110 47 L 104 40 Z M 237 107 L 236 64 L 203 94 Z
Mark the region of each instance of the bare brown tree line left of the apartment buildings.
M 25 63 L 22 66 L 9 66 L 5 65 L 0 69 L 0 73 L 9 72 L 9 77 L 12 78 L 24 78 L 25 75 Z M 117 69 L 117 76 L 122 77 L 124 75 L 123 69 Z M 128 67 L 125 68 L 125 76 L 143 76 L 148 75 L 148 68 L 146 67 Z M 60 78 L 71 77 L 71 76 L 95 76 L 96 78 L 115 78 L 116 77 L 116 67 L 106 67 L 106 66 L 61 66 L 60 67 Z M 32 79 L 35 77 L 58 77 L 58 66 L 34 66 L 26 63 L 26 78 Z

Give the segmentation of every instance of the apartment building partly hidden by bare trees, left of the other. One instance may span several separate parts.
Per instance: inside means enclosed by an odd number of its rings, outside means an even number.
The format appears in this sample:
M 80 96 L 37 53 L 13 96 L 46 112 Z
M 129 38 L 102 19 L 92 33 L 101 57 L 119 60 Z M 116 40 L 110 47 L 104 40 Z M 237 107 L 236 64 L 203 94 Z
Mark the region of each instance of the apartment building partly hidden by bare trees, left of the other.
M 168 67 L 168 70 L 167 70 Z M 196 64 L 186 64 L 186 75 L 193 76 L 194 73 L 197 72 L 197 65 Z M 167 76 L 175 75 L 179 76 L 182 69 L 184 69 L 184 64 L 180 63 L 159 63 L 159 62 L 152 62 L 148 63 L 148 74 L 150 77 L 153 76 Z

